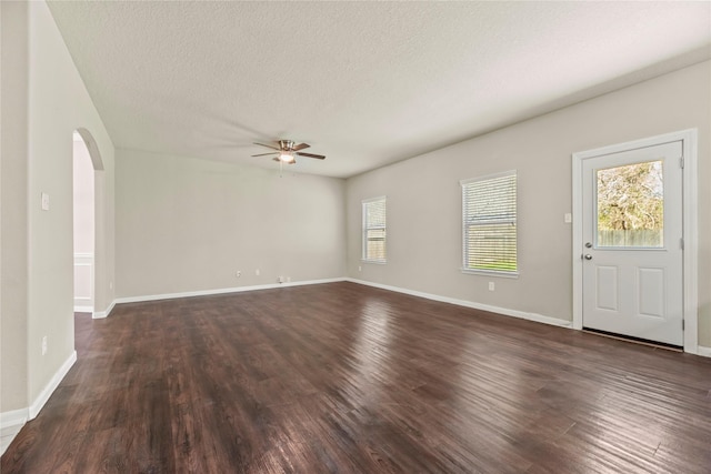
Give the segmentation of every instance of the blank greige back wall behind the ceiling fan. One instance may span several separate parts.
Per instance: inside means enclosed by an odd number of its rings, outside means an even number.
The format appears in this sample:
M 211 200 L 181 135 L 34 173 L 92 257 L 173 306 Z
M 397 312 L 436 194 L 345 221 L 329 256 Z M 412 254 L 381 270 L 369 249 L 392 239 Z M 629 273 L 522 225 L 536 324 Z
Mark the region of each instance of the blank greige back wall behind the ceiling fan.
M 277 167 L 119 149 L 117 295 L 342 278 L 344 181 Z

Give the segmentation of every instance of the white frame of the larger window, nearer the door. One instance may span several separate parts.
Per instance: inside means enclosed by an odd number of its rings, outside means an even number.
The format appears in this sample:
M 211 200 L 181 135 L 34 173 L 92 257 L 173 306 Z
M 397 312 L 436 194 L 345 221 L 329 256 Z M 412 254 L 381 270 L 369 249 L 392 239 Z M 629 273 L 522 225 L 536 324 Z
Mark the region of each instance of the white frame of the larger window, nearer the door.
M 491 181 L 501 178 L 512 177 L 513 178 L 513 199 L 514 199 L 514 209 L 513 209 L 513 218 L 501 218 L 501 219 L 491 219 L 487 221 L 481 221 L 479 223 L 472 223 L 471 218 L 467 212 L 468 204 L 468 185 L 472 183 L 480 183 L 483 181 Z M 461 193 L 462 193 L 462 266 L 461 272 L 465 274 L 475 274 L 475 275 L 490 275 L 490 276 L 501 276 L 501 278 L 510 278 L 517 279 L 519 278 L 520 272 L 520 262 L 519 262 L 519 177 L 518 170 L 509 170 L 500 173 L 487 174 L 483 177 L 470 178 L 467 180 L 460 181 Z M 485 270 L 485 269 L 475 269 L 468 266 L 469 260 L 469 238 L 468 230 L 472 225 L 491 225 L 491 224 L 513 224 L 515 228 L 515 243 L 514 243 L 514 253 L 515 253 L 515 270 Z

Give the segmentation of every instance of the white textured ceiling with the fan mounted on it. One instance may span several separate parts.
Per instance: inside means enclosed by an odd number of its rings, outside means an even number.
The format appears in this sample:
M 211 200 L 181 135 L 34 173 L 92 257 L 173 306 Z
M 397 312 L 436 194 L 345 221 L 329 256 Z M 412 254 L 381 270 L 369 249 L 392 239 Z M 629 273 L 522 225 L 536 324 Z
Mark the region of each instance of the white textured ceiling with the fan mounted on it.
M 711 2 L 51 2 L 114 144 L 350 177 L 711 58 Z

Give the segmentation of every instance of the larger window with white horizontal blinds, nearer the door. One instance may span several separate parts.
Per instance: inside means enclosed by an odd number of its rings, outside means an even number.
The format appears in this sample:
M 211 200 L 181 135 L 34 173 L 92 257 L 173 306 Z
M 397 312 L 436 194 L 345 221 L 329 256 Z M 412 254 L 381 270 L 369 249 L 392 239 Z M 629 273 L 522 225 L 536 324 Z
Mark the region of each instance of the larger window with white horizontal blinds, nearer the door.
M 517 172 L 461 182 L 463 272 L 517 275 Z

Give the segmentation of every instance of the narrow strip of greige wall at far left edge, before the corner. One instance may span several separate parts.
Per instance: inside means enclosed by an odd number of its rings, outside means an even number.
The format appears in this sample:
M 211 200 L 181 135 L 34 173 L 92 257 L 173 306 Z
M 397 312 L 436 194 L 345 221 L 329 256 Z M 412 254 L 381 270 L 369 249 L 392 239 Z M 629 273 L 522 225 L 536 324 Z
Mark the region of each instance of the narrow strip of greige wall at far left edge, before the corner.
M 27 10 L 21 2 L 0 3 L 0 412 L 27 406 Z

